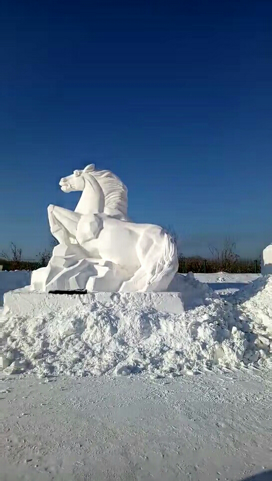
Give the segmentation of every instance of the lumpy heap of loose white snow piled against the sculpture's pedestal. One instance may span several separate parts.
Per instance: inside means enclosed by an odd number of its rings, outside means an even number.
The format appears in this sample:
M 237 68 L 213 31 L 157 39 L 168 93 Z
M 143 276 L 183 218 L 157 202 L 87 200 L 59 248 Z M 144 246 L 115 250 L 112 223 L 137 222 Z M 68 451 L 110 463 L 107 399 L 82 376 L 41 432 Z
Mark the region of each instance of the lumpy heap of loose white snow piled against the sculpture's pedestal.
M 2 326 L 4 372 L 165 376 L 269 364 L 271 338 L 256 331 L 241 306 L 220 299 L 192 275 L 176 282 L 197 299 L 180 315 L 141 306 L 132 293 L 125 301 L 112 295 L 106 305 L 94 296 L 66 311 L 8 318 Z

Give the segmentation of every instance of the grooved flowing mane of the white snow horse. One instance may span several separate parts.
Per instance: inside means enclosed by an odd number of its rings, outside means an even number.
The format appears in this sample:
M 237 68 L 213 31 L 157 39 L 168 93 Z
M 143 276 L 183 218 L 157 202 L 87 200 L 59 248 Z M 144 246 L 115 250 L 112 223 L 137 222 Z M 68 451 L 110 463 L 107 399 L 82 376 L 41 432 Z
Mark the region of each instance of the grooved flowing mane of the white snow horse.
M 127 220 L 127 188 L 117 175 L 110 170 L 93 170 L 90 172 L 104 194 L 104 213 L 112 217 Z

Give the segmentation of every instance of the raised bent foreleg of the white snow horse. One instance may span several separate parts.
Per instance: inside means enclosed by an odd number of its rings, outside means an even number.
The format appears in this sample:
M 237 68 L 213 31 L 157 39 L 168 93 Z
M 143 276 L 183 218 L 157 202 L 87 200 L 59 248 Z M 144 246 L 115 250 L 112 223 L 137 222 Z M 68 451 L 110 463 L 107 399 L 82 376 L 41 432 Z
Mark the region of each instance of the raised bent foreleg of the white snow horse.
M 52 204 L 48 206 L 47 212 L 52 235 L 60 244 L 70 244 L 70 237 L 75 238 L 80 214 Z

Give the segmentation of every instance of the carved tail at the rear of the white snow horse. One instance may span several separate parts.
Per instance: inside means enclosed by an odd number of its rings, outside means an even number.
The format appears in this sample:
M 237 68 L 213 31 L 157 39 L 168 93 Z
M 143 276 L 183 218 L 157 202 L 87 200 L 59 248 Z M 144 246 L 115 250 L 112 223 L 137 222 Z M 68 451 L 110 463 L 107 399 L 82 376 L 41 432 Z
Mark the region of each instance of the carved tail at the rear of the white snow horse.
M 147 287 L 147 291 L 156 291 L 156 287 L 159 291 L 166 290 L 178 268 L 176 245 L 171 235 L 165 230 L 162 230 L 162 236 L 162 249 L 148 279 L 150 287 Z

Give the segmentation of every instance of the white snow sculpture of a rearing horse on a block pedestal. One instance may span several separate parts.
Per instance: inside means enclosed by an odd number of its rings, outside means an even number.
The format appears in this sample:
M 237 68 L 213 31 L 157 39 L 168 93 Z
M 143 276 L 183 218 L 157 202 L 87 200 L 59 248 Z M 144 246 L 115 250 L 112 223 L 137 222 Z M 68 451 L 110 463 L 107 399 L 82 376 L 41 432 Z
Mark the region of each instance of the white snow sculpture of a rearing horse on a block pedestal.
M 178 266 L 175 244 L 161 227 L 129 221 L 127 189 L 116 175 L 91 164 L 60 179 L 59 185 L 63 192 L 82 194 L 74 211 L 48 206 L 59 245 L 48 266 L 33 272 L 32 289 L 167 289 Z

